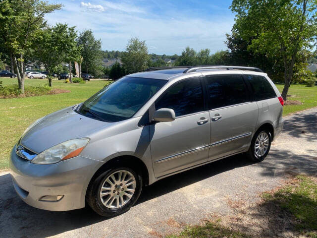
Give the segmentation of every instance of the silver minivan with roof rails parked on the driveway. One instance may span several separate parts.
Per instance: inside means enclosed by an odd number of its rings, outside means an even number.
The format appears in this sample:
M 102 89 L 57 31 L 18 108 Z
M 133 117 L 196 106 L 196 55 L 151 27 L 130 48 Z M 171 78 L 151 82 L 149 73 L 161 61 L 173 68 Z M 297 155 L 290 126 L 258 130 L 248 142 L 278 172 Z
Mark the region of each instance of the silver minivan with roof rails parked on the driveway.
M 10 154 L 13 185 L 37 208 L 114 216 L 164 177 L 238 153 L 264 160 L 282 112 L 259 68 L 149 68 L 32 123 Z

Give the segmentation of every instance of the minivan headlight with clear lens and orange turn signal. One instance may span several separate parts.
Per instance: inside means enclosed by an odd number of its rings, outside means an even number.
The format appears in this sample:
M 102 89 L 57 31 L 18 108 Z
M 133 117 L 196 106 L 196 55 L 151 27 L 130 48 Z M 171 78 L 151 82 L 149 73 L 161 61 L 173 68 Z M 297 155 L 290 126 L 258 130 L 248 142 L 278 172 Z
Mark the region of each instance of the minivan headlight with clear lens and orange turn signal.
M 89 138 L 65 141 L 38 154 L 31 163 L 47 165 L 73 158 L 80 154 L 88 142 Z

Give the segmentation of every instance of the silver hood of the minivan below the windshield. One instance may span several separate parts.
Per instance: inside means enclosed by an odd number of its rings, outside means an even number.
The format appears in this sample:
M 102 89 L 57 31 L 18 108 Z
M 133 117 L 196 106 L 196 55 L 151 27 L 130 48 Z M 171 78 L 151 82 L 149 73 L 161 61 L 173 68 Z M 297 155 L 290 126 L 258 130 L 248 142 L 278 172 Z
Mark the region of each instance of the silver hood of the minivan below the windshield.
M 82 116 L 74 112 L 72 107 L 52 113 L 37 122 L 22 136 L 21 144 L 41 153 L 61 142 L 89 137 L 97 130 L 113 124 Z

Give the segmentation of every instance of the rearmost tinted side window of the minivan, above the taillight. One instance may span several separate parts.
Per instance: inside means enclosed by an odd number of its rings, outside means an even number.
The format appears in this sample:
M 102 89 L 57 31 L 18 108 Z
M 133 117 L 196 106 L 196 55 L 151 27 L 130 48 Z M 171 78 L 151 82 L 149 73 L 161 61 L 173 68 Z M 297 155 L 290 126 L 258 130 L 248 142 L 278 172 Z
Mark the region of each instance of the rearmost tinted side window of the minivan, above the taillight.
M 276 97 L 274 89 L 264 76 L 246 75 L 246 77 L 250 83 L 255 101 Z

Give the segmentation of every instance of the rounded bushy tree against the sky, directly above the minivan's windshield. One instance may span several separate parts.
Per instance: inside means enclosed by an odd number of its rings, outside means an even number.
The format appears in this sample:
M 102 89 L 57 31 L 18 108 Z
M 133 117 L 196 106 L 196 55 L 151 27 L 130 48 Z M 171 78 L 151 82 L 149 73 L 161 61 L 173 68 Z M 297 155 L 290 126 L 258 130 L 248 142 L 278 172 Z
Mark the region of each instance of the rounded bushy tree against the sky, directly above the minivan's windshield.
M 126 52 L 121 58 L 127 73 L 144 71 L 147 68 L 147 62 L 149 59 L 150 56 L 148 55 L 148 48 L 145 41 L 131 37 L 126 46 Z

